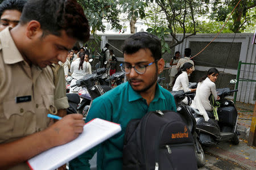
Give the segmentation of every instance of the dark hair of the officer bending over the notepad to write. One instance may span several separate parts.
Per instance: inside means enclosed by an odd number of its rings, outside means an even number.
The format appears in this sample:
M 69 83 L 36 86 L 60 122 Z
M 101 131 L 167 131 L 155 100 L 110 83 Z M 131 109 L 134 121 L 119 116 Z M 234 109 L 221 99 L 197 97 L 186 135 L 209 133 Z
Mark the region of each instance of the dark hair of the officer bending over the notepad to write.
M 43 36 L 60 36 L 61 30 L 80 41 L 87 41 L 90 36 L 88 20 L 76 0 L 28 0 L 20 24 L 24 25 L 31 20 L 40 23 Z

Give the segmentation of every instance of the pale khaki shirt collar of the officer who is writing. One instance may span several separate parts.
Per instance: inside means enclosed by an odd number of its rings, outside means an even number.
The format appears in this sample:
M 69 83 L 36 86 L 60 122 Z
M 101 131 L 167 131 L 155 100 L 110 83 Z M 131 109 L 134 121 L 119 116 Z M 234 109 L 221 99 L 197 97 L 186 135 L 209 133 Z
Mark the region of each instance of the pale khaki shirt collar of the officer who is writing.
M 6 28 L 0 33 L 3 61 L 6 64 L 14 64 L 24 61 L 10 34 L 11 28 Z

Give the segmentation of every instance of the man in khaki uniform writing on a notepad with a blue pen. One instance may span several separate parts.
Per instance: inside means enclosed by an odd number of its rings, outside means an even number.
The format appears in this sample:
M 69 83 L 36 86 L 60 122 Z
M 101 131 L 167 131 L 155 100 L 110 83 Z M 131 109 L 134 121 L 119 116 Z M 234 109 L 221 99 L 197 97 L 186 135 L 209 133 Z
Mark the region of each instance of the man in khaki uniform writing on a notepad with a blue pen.
M 49 65 L 65 62 L 67 50 L 88 38 L 88 20 L 75 0 L 28 0 L 20 23 L 0 33 L 0 169 L 29 169 L 26 160 L 82 132 L 80 114 L 47 128 L 55 107 Z

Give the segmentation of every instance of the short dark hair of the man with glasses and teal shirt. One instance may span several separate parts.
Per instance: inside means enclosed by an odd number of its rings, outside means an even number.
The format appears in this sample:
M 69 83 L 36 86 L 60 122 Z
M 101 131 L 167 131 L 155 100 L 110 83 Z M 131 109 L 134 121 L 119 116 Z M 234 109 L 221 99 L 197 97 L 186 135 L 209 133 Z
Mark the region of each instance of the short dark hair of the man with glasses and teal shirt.
M 160 40 L 147 32 L 138 32 L 130 36 L 125 40 L 122 49 L 124 54 L 134 54 L 140 49 L 149 49 L 155 60 L 162 57 Z

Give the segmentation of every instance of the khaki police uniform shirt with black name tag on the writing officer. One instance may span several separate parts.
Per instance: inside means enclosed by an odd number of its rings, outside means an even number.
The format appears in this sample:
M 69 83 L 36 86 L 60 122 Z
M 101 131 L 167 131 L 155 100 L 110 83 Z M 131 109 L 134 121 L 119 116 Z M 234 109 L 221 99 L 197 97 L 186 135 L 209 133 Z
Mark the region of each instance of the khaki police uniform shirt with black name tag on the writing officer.
M 68 108 L 65 94 L 55 90 L 51 67 L 30 67 L 16 48 L 9 29 L 0 33 L 0 89 L 0 143 L 46 129 L 51 121 L 47 117 L 49 108 L 55 103 L 58 109 Z M 29 168 L 22 163 L 11 169 Z

